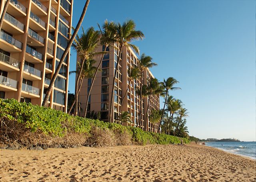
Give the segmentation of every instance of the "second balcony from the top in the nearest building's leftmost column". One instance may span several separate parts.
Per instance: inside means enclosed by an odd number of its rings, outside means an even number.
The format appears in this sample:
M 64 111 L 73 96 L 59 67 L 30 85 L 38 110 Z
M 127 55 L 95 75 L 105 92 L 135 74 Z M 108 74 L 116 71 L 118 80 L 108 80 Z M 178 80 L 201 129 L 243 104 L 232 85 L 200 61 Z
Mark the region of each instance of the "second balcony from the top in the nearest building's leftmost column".
M 4 23 L 2 28 L 9 31 L 9 33 L 19 35 L 24 33 L 24 24 L 19 22 L 16 18 L 6 13 L 4 16 Z

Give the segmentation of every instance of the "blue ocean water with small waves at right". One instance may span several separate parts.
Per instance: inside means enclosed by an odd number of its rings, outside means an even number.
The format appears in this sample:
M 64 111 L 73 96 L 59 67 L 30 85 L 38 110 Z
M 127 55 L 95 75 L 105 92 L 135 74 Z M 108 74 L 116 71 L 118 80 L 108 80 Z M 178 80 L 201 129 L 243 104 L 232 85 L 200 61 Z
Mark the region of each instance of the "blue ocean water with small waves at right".
M 215 147 L 223 151 L 256 159 L 256 142 L 206 142 L 205 145 Z M 223 146 L 222 146 L 223 145 Z

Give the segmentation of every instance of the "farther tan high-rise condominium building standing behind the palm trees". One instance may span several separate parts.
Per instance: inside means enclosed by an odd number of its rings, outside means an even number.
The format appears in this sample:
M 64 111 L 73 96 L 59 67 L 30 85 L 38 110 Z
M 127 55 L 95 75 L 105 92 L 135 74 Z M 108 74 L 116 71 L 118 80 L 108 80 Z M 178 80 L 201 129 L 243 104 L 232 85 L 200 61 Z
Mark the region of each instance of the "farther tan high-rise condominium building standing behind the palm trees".
M 115 46 L 118 46 L 115 44 Z M 104 46 L 98 46 L 96 51 L 104 51 Z M 89 110 L 92 112 L 100 112 L 101 119 L 104 121 L 108 121 L 109 117 L 109 109 L 110 109 L 110 100 L 111 100 L 111 89 L 112 83 L 114 79 L 114 71 L 117 64 L 118 59 L 118 49 L 111 46 L 108 48 L 109 54 L 104 55 L 104 59 L 101 65 L 100 72 L 96 75 L 96 80 L 92 87 L 92 93 L 90 95 L 90 104 L 88 106 Z M 140 111 L 140 97 L 136 94 L 136 88 L 140 86 L 141 80 L 136 79 L 132 80 L 131 84 L 128 88 L 130 78 L 128 76 L 129 68 L 134 65 L 138 65 L 138 58 L 135 53 L 129 47 L 123 47 L 122 49 L 122 61 L 119 63 L 118 74 L 115 79 L 115 89 L 114 89 L 114 111 L 112 113 L 111 121 L 116 121 L 118 115 L 122 111 L 127 111 L 131 115 L 131 122 L 126 122 L 124 125 L 134 126 L 137 125 L 139 111 Z M 79 60 L 80 58 L 77 57 Z M 95 57 L 96 64 L 98 66 L 100 62 L 101 56 Z M 150 72 L 149 69 L 144 70 L 143 73 L 143 84 L 146 85 L 150 78 L 154 76 Z M 90 89 L 91 79 L 84 79 L 82 88 L 80 91 L 79 102 L 81 105 L 81 113 L 84 114 L 85 103 L 87 99 L 87 93 Z M 121 100 L 125 95 L 125 92 L 128 88 L 127 96 L 124 98 L 124 102 L 121 108 Z M 145 97 L 142 100 L 142 120 L 143 120 L 143 128 L 144 130 L 151 130 L 151 124 L 148 121 L 148 117 L 146 118 L 146 110 L 149 105 L 149 115 L 152 109 L 159 110 L 159 96 L 152 96 L 150 100 L 148 97 Z M 147 120 L 147 121 L 146 121 Z M 153 125 L 153 131 L 156 131 L 157 124 Z

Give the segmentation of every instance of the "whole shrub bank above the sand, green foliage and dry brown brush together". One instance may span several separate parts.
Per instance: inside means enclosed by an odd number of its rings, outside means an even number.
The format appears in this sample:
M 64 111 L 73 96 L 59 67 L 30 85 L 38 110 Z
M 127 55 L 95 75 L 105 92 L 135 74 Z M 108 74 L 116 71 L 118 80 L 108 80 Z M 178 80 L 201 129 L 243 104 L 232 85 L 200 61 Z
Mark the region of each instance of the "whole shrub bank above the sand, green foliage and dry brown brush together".
M 9 146 L 79 147 L 177 144 L 188 139 L 142 131 L 94 119 L 74 117 L 50 108 L 0 100 L 0 142 Z

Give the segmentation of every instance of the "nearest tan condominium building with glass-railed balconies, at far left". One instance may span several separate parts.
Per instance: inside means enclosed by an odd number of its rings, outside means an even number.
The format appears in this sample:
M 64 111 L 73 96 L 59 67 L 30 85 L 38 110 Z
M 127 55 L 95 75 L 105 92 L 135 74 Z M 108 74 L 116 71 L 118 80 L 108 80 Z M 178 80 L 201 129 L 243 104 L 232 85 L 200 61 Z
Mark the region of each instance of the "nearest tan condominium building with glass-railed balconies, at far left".
M 0 14 L 5 5 L 1 1 Z M 70 39 L 73 0 L 10 0 L 0 32 L 0 98 L 41 105 Z M 67 55 L 48 106 L 67 110 Z

